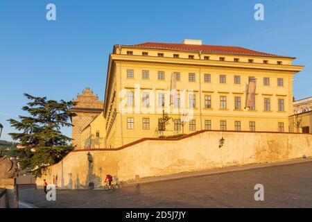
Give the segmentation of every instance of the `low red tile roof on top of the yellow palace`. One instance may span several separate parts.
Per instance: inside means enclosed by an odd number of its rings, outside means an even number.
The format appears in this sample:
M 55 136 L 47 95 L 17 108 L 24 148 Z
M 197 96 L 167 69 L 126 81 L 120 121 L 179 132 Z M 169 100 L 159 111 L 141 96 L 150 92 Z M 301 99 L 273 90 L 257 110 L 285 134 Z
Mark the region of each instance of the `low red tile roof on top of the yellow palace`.
M 214 46 L 209 44 L 178 44 L 178 43 L 159 43 L 159 42 L 144 42 L 141 44 L 132 44 L 130 46 L 139 48 L 150 49 L 167 49 L 167 50 L 180 50 L 180 51 L 202 51 L 207 53 L 222 53 L 222 54 L 234 54 L 245 56 L 268 56 L 268 57 L 280 57 L 280 58 L 294 58 L 289 56 L 278 56 L 270 53 L 263 53 L 261 51 L 254 51 L 245 49 L 238 46 Z

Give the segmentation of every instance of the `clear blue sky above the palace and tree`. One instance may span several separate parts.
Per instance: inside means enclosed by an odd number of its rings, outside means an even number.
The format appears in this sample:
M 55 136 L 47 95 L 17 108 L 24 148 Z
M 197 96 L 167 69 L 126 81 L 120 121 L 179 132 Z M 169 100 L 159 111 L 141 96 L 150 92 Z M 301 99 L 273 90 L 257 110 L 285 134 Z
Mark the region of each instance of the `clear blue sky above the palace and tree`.
M 46 20 L 48 3 L 55 3 L 56 21 Z M 254 20 L 256 3 L 263 3 L 264 21 Z M 1 139 L 11 140 L 6 119 L 25 114 L 24 92 L 71 100 L 88 86 L 103 100 L 114 44 L 191 38 L 295 56 L 295 65 L 306 67 L 295 76 L 294 96 L 312 96 L 311 10 L 311 0 L 1 0 Z

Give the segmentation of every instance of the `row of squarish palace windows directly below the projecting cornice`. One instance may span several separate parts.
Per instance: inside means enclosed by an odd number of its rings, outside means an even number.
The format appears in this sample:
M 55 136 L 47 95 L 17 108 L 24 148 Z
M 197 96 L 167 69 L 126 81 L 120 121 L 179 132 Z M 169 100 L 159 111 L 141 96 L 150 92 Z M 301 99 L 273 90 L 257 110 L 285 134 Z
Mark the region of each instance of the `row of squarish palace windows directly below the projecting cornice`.
M 180 72 L 174 72 L 173 75 L 177 81 L 181 80 Z M 134 78 L 134 71 L 133 69 L 127 69 L 127 78 Z M 148 70 L 142 70 L 142 79 L 148 80 L 150 78 L 150 73 Z M 254 76 L 249 76 L 248 81 L 253 79 Z M 165 80 L 165 73 L 164 71 L 158 71 L 157 73 L 158 80 Z M 189 82 L 196 82 L 196 74 L 189 73 Z M 211 74 L 204 74 L 204 82 L 211 83 Z M 220 75 L 219 76 L 219 83 L 227 83 L 227 76 Z M 241 76 L 234 76 L 234 84 L 241 84 Z M 270 86 L 270 78 L 264 77 L 263 78 L 263 85 Z M 284 86 L 284 78 L 277 78 L 277 86 L 283 87 Z

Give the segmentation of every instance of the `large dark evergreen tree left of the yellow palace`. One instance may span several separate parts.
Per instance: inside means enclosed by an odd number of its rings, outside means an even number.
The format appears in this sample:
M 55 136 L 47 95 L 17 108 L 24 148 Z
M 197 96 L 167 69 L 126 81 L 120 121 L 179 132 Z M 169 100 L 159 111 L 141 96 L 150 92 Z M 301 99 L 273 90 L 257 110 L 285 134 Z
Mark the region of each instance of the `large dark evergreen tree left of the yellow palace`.
M 30 102 L 22 108 L 29 117 L 19 116 L 19 121 L 8 119 L 20 133 L 9 133 L 24 148 L 18 150 L 21 169 L 30 168 L 35 176 L 41 176 L 47 166 L 62 160 L 73 149 L 71 138 L 62 135 L 61 127 L 72 126 L 69 119 L 74 115 L 69 109 L 72 101 L 47 100 L 24 94 Z

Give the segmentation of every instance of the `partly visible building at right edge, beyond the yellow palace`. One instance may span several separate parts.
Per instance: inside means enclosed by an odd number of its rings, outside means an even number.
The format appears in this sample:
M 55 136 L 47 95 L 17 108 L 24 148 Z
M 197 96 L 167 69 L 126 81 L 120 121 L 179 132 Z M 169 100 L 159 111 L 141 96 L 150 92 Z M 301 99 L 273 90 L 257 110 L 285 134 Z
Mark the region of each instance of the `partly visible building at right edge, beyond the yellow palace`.
M 312 96 L 293 102 L 290 127 L 293 133 L 312 133 Z

